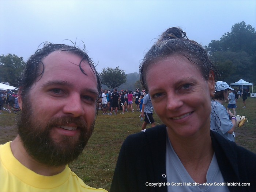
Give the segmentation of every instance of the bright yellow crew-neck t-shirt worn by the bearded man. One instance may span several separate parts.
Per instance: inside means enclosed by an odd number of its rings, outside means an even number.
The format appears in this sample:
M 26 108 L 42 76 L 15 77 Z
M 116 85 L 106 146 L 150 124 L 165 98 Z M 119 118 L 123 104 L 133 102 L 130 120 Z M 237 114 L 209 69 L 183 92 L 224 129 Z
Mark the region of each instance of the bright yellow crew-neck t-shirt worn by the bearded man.
M 57 175 L 38 175 L 13 156 L 10 144 L 0 145 L 1 192 L 107 192 L 84 184 L 68 165 Z

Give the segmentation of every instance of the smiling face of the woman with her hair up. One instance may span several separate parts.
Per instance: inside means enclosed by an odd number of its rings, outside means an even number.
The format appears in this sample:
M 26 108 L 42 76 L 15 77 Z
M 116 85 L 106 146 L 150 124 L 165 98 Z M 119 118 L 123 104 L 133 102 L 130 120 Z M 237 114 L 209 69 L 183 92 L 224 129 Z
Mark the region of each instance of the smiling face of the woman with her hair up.
M 184 56 L 169 56 L 152 63 L 147 85 L 158 117 L 176 136 L 210 131 L 214 77 L 205 80 L 199 66 Z

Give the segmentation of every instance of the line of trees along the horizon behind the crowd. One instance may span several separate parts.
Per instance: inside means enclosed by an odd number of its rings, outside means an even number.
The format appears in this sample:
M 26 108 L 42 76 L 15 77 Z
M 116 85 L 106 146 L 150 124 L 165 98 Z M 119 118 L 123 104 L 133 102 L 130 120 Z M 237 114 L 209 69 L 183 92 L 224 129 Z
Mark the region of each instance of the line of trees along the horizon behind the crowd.
M 246 25 L 244 21 L 234 24 L 230 32 L 222 35 L 219 40 L 212 40 L 205 49 L 221 73 L 219 81 L 230 84 L 244 79 L 256 85 L 256 32 L 250 24 Z M 15 86 L 24 68 L 22 57 L 12 54 L 0 55 L 0 82 L 9 82 Z M 102 84 L 109 89 L 120 86 L 130 90 L 137 87 L 143 89 L 138 73 L 127 76 L 125 70 L 121 70 L 119 66 L 103 68 L 99 74 Z

